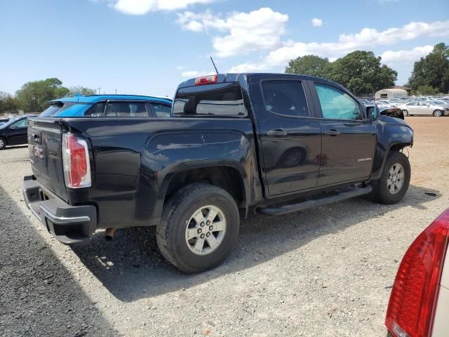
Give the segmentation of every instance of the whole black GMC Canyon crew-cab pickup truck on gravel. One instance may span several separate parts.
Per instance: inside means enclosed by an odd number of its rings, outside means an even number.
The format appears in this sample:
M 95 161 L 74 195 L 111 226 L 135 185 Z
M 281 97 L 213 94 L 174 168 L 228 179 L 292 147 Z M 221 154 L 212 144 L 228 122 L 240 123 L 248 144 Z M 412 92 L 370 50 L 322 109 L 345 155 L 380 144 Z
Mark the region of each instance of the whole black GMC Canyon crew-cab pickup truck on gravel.
M 156 225 L 163 256 L 199 272 L 254 213 L 401 201 L 413 130 L 332 81 L 217 74 L 180 84 L 170 118 L 32 118 L 28 143 L 25 200 L 56 239 Z

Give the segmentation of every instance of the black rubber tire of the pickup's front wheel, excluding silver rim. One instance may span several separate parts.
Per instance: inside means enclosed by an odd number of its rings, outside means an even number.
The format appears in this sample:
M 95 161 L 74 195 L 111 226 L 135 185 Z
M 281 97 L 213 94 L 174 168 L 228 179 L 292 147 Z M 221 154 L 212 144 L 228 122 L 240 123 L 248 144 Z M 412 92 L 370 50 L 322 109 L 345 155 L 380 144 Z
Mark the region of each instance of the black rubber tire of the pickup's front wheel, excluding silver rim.
M 404 169 L 404 180 L 401 190 L 393 194 L 389 191 L 387 187 L 387 179 L 389 171 L 395 164 L 401 164 Z M 369 197 L 375 202 L 380 204 L 396 204 L 403 199 L 406 195 L 408 186 L 410 185 L 410 162 L 405 154 L 402 152 L 394 151 L 391 152 L 385 162 L 382 175 L 379 179 L 371 182 L 373 187 L 373 192 L 370 193 Z

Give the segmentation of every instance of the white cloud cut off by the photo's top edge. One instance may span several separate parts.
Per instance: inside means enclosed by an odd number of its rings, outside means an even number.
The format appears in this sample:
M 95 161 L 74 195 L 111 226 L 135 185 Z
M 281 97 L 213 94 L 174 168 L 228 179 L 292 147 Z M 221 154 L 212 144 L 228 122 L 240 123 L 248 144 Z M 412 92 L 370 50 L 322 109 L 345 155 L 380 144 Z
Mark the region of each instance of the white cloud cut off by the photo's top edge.
M 98 1 L 98 0 L 93 0 Z M 208 4 L 216 0 L 106 0 L 116 11 L 144 15 L 151 11 L 176 11 L 194 4 Z

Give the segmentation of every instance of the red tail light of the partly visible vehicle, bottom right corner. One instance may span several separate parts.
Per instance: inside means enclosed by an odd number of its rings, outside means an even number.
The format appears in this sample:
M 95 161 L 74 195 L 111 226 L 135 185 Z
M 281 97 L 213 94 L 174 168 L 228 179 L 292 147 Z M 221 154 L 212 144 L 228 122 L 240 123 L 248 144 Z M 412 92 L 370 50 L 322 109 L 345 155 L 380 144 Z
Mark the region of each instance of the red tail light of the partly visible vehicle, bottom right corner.
M 449 209 L 415 239 L 403 257 L 385 319 L 393 336 L 431 335 L 448 232 Z

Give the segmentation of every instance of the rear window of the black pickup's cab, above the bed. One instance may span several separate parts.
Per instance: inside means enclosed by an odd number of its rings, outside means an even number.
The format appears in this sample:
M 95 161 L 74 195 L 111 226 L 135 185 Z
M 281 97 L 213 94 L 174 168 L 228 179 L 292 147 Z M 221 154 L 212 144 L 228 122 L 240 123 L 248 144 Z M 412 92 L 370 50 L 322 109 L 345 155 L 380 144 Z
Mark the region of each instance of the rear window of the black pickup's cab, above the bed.
M 173 102 L 176 117 L 244 117 L 240 84 L 223 83 L 180 88 Z

